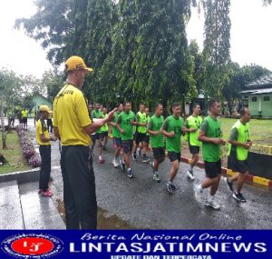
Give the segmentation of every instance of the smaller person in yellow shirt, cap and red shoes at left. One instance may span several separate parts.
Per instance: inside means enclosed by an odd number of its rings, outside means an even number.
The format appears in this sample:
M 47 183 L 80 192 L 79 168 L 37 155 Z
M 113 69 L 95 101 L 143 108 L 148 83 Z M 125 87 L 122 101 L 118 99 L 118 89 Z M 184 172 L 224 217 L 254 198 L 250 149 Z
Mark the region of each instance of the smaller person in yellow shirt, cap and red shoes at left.
M 42 158 L 40 181 L 39 181 L 39 194 L 44 197 L 51 197 L 53 194 L 49 189 L 49 179 L 51 173 L 51 140 L 55 141 L 54 137 L 51 137 L 46 127 L 45 120 L 50 114 L 47 105 L 40 106 L 40 119 L 36 123 L 36 140 L 40 145 L 40 154 Z

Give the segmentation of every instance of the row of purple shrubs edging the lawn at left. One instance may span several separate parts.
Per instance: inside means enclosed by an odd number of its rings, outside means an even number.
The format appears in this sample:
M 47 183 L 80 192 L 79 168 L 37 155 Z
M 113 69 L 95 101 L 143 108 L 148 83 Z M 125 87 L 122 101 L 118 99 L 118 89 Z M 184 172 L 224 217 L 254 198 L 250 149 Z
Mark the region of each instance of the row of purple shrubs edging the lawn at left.
M 22 126 L 17 126 L 16 131 L 20 138 L 24 158 L 26 159 L 28 164 L 30 164 L 32 167 L 41 166 L 41 157 L 35 152 L 34 145 L 24 133 L 24 129 L 22 128 Z

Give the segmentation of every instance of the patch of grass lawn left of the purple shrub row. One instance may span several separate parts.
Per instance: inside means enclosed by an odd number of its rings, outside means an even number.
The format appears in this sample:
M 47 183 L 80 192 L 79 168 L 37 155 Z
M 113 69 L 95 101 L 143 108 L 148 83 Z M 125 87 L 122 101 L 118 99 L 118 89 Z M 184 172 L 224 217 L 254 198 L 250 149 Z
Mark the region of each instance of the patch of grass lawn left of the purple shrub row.
M 6 135 L 6 144 L 8 149 L 2 149 L 2 136 L 0 137 L 0 153 L 5 156 L 9 164 L 0 165 L 0 174 L 13 173 L 32 169 L 23 158 L 21 144 L 18 134 L 15 131 Z

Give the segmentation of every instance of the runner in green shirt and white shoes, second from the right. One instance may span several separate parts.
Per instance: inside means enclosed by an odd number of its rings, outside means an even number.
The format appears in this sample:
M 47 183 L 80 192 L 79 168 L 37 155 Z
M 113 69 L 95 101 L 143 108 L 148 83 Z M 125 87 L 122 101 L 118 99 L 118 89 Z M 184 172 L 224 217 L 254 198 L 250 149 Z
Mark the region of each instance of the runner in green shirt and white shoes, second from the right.
M 220 205 L 214 200 L 221 177 L 220 145 L 226 144 L 226 141 L 222 139 L 221 125 L 218 120 L 219 114 L 219 101 L 211 99 L 209 101 L 209 116 L 204 119 L 199 132 L 199 141 L 202 142 L 206 179 L 202 184 L 195 186 L 195 190 L 199 194 L 203 192 L 203 189 L 210 187 L 209 197 L 206 199 L 205 205 L 216 210 L 220 208 Z

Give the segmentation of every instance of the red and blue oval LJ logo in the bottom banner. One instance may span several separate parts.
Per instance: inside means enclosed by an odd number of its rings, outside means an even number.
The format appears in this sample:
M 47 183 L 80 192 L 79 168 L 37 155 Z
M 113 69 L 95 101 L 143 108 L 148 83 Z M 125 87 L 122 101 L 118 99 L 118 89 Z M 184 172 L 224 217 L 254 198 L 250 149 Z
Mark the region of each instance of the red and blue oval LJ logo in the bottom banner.
M 48 234 L 22 234 L 5 239 L 1 244 L 5 254 L 17 258 L 47 258 L 63 251 L 63 242 Z

